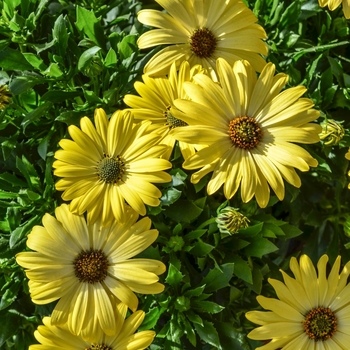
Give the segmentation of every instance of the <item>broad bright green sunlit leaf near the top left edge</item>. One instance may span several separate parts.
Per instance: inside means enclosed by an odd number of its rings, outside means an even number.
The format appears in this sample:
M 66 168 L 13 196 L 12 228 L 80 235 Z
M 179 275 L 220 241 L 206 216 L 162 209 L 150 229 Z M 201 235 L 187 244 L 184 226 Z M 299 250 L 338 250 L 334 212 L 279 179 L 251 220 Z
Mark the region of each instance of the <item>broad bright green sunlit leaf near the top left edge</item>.
M 105 34 L 103 28 L 93 13 L 93 11 L 88 11 L 83 7 L 76 6 L 77 9 L 77 28 L 84 32 L 85 35 L 92 40 L 97 46 L 101 48 L 106 47 Z

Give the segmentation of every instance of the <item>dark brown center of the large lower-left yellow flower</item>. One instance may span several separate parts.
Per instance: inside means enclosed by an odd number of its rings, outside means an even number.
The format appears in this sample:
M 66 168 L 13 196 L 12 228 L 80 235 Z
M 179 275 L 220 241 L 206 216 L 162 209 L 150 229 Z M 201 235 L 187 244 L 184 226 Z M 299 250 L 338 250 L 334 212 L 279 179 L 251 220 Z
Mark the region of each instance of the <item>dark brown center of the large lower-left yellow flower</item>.
M 93 284 L 102 282 L 107 276 L 108 260 L 101 250 L 82 251 L 74 260 L 73 265 L 75 276 L 80 282 Z

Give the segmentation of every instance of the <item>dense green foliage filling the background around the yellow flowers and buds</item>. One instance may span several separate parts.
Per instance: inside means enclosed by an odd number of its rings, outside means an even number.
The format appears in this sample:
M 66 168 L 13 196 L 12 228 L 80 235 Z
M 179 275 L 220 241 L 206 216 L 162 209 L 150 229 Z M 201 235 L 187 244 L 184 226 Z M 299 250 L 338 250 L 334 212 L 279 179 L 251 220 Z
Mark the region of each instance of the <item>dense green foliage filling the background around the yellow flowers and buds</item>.
M 345 129 L 337 145 L 307 146 L 319 165 L 300 174 L 302 186 L 286 184 L 286 198 L 230 202 L 221 192 L 207 196 L 208 177 L 190 183 L 176 149 L 173 180 L 161 186 L 161 206 L 148 215 L 159 232 L 140 256 L 163 261 L 166 289 L 140 296 L 146 312 L 141 329 L 154 329 L 150 346 L 160 349 L 254 349 L 244 317 L 258 307 L 257 294 L 273 296 L 268 277 L 280 279 L 291 256 L 338 254 L 350 260 L 348 161 L 350 146 L 349 21 L 316 0 L 246 1 L 265 28 L 268 61 L 289 74 L 289 86 L 303 84 L 321 111 L 320 123 L 334 119 Z M 135 93 L 142 68 L 159 49 L 139 52 L 136 40 L 149 30 L 137 21 L 154 1 L 3 0 L 0 2 L 0 85 L 12 93 L 0 111 L 0 349 L 27 349 L 52 305 L 34 305 L 27 279 L 15 262 L 26 236 L 41 217 L 62 203 L 54 188 L 53 154 L 69 137 L 67 126 L 124 108 Z M 235 235 L 218 231 L 219 207 L 231 205 L 250 219 Z

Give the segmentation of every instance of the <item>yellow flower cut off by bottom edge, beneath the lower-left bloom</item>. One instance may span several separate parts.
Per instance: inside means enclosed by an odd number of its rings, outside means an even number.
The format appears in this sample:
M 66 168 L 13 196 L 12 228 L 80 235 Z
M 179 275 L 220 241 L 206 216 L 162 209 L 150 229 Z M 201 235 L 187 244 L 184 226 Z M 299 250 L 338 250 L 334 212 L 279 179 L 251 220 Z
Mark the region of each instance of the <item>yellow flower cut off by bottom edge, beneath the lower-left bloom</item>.
M 125 321 L 126 309 L 120 310 L 123 319 L 115 328 L 115 334 L 100 335 L 93 341 L 84 340 L 72 334 L 66 325 L 57 327 L 52 324 L 52 318 L 44 317 L 43 326 L 34 332 L 40 344 L 29 346 L 29 350 L 143 350 L 149 346 L 155 336 L 153 331 L 136 332 L 141 325 L 145 313 L 136 311 Z

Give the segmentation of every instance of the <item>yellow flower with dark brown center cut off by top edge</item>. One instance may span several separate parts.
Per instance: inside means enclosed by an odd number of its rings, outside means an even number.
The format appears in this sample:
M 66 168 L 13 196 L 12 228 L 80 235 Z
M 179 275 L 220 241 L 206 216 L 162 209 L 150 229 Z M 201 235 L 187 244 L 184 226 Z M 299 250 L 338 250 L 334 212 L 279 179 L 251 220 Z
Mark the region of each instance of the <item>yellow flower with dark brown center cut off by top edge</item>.
M 264 29 L 246 5 L 238 0 L 156 0 L 167 13 L 141 10 L 138 20 L 159 29 L 140 36 L 140 49 L 170 45 L 146 64 L 144 72 L 164 75 L 176 62 L 188 61 L 191 66 L 200 64 L 215 79 L 215 61 L 225 58 L 230 64 L 248 60 L 260 72 L 267 55 Z

